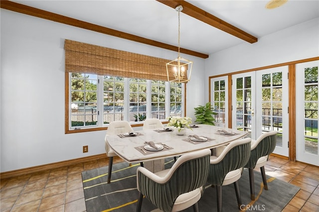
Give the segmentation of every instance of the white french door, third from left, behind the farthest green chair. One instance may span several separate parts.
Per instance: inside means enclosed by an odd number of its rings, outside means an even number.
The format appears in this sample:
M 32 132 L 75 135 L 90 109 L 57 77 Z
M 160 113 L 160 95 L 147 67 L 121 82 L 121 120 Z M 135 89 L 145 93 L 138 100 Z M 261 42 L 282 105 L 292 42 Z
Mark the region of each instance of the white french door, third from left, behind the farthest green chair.
M 274 153 L 289 156 L 288 66 L 258 71 L 256 87 L 257 137 L 277 131 Z

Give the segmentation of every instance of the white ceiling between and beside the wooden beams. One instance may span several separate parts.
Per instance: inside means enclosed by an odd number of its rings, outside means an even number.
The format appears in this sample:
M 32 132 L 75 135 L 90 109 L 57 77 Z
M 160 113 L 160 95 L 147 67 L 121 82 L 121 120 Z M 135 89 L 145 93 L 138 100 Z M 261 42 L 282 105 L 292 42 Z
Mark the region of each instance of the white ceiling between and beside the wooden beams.
M 178 12 L 155 0 L 14 0 L 82 21 L 177 46 Z M 275 9 L 268 0 L 186 0 L 257 37 L 319 17 L 319 0 L 288 0 Z M 180 46 L 211 54 L 247 43 L 180 13 Z

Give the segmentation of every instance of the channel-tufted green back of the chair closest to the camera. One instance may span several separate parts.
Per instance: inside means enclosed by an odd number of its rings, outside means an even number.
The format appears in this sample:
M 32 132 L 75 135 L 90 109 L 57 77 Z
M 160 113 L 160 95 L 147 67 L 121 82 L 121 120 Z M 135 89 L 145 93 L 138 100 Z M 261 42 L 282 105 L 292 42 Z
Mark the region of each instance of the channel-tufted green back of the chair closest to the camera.
M 164 177 L 155 182 L 137 171 L 137 188 L 156 207 L 170 212 L 176 198 L 184 193 L 203 187 L 207 182 L 210 150 L 204 149 L 180 156 Z

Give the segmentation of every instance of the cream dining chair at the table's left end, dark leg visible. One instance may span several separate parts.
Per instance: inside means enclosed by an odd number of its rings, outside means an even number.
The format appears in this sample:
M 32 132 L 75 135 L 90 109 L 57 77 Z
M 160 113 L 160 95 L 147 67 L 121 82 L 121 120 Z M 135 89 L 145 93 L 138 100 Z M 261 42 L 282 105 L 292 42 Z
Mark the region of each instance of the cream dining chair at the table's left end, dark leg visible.
M 117 135 L 126 132 L 132 132 L 133 128 L 128 121 L 112 121 L 105 135 L 105 151 L 106 155 L 109 157 L 109 173 L 108 173 L 108 183 L 111 183 L 111 174 L 112 174 L 112 165 L 113 165 L 113 157 L 117 156 L 117 154 L 113 151 L 113 149 L 109 146 L 107 137 L 108 135 Z

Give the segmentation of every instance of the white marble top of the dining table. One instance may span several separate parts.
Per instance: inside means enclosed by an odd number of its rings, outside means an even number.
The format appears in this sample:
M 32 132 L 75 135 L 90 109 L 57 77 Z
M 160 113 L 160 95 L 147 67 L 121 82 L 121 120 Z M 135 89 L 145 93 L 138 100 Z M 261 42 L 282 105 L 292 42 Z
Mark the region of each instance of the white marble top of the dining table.
M 218 126 L 198 124 L 198 128 L 187 129 L 185 135 L 176 135 L 174 131 L 170 132 L 157 132 L 155 129 L 138 131 L 143 135 L 130 136 L 121 138 L 118 135 L 107 135 L 107 142 L 110 147 L 122 159 L 128 163 L 152 161 L 167 157 L 179 156 L 191 151 L 196 151 L 205 148 L 215 148 L 224 144 L 228 144 L 233 140 L 239 139 L 247 134 L 247 132 L 239 131 L 236 129 L 223 128 Z M 224 136 L 218 133 L 217 130 L 226 129 L 238 133 L 232 136 Z M 189 138 L 189 135 L 206 136 L 212 140 L 200 142 L 198 144 L 183 141 Z M 154 141 L 155 143 L 164 143 L 172 149 L 165 151 L 156 151 L 152 154 L 144 155 L 139 152 L 135 147 L 145 145 L 145 141 Z

